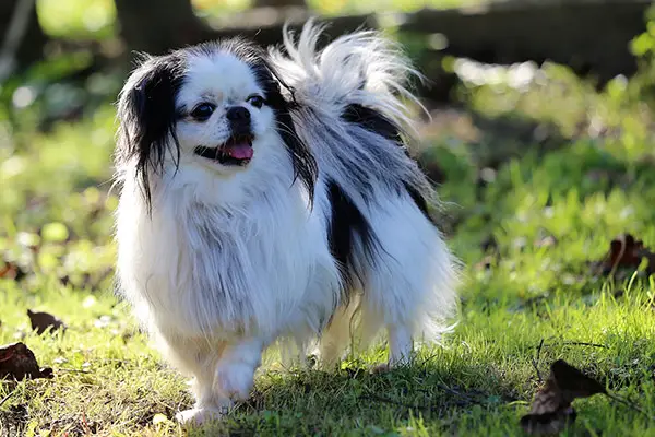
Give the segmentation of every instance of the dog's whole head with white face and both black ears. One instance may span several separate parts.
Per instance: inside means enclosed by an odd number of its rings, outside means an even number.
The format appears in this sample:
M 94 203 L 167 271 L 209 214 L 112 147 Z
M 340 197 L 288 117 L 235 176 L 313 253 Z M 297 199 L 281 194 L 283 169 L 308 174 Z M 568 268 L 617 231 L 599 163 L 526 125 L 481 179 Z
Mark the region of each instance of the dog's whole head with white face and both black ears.
M 282 145 L 311 192 L 315 162 L 281 85 L 265 52 L 241 39 L 145 56 L 120 93 L 117 164 L 133 166 L 150 203 L 151 181 L 167 172 L 229 178 Z

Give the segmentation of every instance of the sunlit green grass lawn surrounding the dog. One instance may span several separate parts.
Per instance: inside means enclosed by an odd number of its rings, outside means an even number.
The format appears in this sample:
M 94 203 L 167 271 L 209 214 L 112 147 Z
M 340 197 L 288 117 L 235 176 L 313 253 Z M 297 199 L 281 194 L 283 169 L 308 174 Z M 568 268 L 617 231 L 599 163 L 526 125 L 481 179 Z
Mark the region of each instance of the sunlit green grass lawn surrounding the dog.
M 433 111 L 414 151 L 439 182 L 436 214 L 465 264 L 443 347 L 385 374 L 369 371 L 383 344 L 333 373 L 283 368 L 272 351 L 250 400 L 190 434 L 520 436 L 563 358 L 633 404 L 575 400 L 564 435 L 655 435 L 651 265 L 606 274 L 596 263 L 622 234 L 655 248 L 648 66 L 597 91 L 559 66 L 496 68 L 474 83 L 465 72 L 481 67 L 455 62 L 460 104 Z M 0 94 L 0 344 L 24 342 L 55 377 L 0 382 L 0 436 L 179 435 L 186 381 L 112 290 L 111 99 L 122 76 L 41 86 L 49 68 Z M 83 110 L 64 119 L 74 98 Z M 28 309 L 66 331 L 38 335 Z

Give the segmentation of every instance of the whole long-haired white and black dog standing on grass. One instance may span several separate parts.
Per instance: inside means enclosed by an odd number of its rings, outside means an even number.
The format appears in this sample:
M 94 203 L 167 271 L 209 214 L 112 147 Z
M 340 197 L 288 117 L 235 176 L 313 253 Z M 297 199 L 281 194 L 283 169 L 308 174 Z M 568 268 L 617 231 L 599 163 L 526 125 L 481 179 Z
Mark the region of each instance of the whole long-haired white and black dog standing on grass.
M 456 262 L 406 147 L 415 71 L 376 33 L 319 50 L 321 34 L 145 56 L 120 94 L 119 286 L 193 376 L 182 421 L 247 398 L 277 340 L 334 363 L 385 332 L 393 365 L 456 307 Z

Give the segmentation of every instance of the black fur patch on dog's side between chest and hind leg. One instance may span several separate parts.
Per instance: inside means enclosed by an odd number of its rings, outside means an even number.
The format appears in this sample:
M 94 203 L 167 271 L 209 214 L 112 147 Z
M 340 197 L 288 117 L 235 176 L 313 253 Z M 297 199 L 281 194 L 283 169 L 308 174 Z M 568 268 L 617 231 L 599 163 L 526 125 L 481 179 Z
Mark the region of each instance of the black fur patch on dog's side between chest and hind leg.
M 333 180 L 327 181 L 327 199 L 332 220 L 327 229 L 330 251 L 342 269 L 342 280 L 352 287 L 356 275 L 362 282 L 361 273 L 354 263 L 354 244 L 359 240 L 368 262 L 374 262 L 376 236 L 371 226 L 353 200 Z

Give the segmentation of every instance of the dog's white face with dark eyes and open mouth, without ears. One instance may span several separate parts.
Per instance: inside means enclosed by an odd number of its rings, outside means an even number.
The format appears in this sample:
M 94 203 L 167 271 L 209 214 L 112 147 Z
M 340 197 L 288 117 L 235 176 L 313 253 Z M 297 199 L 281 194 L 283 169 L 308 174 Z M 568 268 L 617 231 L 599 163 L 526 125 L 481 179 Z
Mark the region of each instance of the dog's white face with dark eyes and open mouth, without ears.
M 251 66 L 228 52 L 192 54 L 176 98 L 182 165 L 229 174 L 275 142 L 275 115 Z

